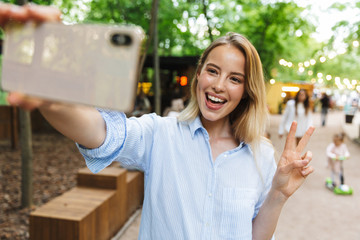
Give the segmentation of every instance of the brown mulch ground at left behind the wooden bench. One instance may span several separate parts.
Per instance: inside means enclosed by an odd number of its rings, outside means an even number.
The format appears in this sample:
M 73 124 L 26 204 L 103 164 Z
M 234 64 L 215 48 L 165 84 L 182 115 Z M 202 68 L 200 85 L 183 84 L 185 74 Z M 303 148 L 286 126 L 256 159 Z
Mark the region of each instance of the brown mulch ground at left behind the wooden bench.
M 33 207 L 21 208 L 21 151 L 0 142 L 0 239 L 29 239 L 29 214 L 76 185 L 85 161 L 59 133 L 33 134 Z

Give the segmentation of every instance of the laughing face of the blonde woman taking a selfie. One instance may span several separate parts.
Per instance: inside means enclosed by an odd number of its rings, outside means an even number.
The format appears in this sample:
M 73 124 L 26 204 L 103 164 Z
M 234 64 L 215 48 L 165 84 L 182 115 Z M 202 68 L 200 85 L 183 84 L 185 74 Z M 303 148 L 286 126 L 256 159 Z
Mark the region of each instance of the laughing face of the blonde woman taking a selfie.
M 197 79 L 196 95 L 203 118 L 228 120 L 245 91 L 244 54 L 231 45 L 214 48 Z

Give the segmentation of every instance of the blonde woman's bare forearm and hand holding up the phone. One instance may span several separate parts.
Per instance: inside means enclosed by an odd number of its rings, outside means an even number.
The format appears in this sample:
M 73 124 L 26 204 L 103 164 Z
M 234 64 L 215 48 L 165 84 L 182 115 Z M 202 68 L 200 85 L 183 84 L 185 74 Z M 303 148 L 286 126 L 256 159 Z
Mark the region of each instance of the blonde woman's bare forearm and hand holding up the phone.
M 26 5 L 19 7 L 0 3 L 0 27 L 10 21 L 59 21 L 60 11 L 53 7 Z M 5 32 L 6 34 L 6 32 Z M 87 148 L 102 144 L 106 135 L 105 122 L 91 107 L 48 102 L 20 93 L 10 93 L 9 104 L 26 110 L 39 108 L 40 112 L 59 132 Z

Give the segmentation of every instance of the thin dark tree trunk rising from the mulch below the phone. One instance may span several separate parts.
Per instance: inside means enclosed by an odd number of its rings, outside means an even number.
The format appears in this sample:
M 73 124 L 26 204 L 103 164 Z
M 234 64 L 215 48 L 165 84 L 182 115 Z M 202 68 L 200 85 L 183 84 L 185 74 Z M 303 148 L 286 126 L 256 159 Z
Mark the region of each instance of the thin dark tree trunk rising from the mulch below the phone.
M 17 0 L 18 5 L 24 5 L 27 0 Z M 19 110 L 20 148 L 21 148 L 21 206 L 30 207 L 33 204 L 33 164 L 30 112 Z

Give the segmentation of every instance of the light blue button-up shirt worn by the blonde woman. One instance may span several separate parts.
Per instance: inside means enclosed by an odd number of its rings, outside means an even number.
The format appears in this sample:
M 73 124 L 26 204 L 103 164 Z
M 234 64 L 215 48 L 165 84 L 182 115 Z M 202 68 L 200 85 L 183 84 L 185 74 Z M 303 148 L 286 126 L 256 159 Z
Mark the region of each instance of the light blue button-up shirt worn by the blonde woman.
M 93 172 L 112 161 L 144 171 L 139 239 L 252 239 L 252 220 L 276 169 L 269 143 L 255 154 L 258 166 L 244 143 L 214 160 L 199 117 L 188 123 L 99 111 L 106 121 L 104 143 L 79 149 Z

